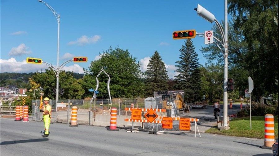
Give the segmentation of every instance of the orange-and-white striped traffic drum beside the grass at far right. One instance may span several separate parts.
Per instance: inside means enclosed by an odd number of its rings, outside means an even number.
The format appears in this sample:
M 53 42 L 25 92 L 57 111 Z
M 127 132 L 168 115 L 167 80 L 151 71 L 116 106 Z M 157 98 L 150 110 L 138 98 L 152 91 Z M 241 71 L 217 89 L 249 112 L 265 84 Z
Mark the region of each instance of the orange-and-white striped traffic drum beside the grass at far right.
M 272 149 L 274 144 L 274 118 L 272 114 L 266 114 L 264 116 L 264 149 Z

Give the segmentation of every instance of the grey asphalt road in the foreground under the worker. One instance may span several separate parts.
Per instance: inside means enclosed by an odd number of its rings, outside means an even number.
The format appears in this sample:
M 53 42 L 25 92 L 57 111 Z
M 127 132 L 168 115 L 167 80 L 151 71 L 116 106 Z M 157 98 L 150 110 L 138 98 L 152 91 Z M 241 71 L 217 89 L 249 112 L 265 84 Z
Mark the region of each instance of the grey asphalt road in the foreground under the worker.
M 271 150 L 260 148 L 263 139 L 208 133 L 195 137 L 185 131 L 128 133 L 126 129 L 109 131 L 106 127 L 61 123 L 50 125 L 50 136 L 42 138 L 42 130 L 42 122 L 0 118 L 0 155 L 272 156 Z

